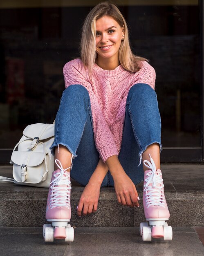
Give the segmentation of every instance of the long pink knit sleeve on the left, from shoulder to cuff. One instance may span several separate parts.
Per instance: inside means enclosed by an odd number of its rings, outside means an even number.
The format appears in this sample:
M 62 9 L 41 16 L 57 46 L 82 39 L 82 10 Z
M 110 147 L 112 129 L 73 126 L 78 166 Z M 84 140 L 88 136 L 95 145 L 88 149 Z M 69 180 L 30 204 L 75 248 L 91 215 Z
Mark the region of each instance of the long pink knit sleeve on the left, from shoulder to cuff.
M 100 157 L 103 162 L 105 162 L 112 155 L 118 155 L 117 145 L 114 136 L 105 121 L 97 97 L 93 92 L 92 85 L 87 81 L 87 78 L 84 77 L 87 72 L 85 72 L 84 67 L 81 67 L 82 65 L 82 63 L 72 65 L 72 61 L 65 64 L 63 68 L 65 88 L 69 85 L 80 84 L 89 92 L 93 117 L 94 141 Z

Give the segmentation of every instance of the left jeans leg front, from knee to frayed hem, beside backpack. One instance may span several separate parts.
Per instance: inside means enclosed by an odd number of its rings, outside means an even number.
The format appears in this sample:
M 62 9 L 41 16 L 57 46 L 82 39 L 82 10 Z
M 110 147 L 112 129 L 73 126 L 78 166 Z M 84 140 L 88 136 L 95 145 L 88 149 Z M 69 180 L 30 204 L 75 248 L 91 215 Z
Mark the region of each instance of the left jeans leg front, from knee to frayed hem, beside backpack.
M 55 119 L 55 138 L 50 147 L 52 154 L 53 149 L 61 144 L 76 156 L 90 106 L 89 93 L 84 86 L 69 85 L 64 90 Z

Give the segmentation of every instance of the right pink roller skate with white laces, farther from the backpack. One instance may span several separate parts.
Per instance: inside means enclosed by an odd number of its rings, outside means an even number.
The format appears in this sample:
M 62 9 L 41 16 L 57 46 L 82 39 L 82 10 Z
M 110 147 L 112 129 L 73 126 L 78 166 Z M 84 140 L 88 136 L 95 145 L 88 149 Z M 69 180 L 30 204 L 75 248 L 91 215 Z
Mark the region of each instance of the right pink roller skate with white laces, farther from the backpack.
M 150 155 L 150 154 L 149 154 Z M 143 241 L 151 241 L 153 238 L 172 240 L 172 227 L 165 220 L 170 217 L 166 199 L 164 196 L 164 184 L 161 170 L 156 170 L 155 163 L 150 156 L 150 161 L 143 163 L 150 170 L 144 173 L 143 206 L 147 222 L 141 222 L 139 227 Z

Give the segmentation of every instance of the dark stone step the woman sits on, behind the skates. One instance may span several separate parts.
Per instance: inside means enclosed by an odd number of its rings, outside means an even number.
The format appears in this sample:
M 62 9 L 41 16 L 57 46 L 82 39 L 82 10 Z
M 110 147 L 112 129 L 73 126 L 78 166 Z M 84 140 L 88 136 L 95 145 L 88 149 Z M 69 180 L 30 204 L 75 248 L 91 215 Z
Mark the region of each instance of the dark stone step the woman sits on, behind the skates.
M 168 225 L 173 227 L 204 226 L 204 166 L 199 164 L 163 164 L 161 166 L 165 196 L 170 211 Z M 0 175 L 12 177 L 11 166 L 0 166 Z M 73 182 L 73 181 L 72 181 Z M 145 221 L 142 183 L 137 185 L 140 207 L 118 204 L 114 188 L 101 188 L 96 213 L 79 218 L 76 214 L 83 186 L 73 182 L 72 220 L 75 227 L 139 227 Z M 42 227 L 48 189 L 0 184 L 0 226 Z

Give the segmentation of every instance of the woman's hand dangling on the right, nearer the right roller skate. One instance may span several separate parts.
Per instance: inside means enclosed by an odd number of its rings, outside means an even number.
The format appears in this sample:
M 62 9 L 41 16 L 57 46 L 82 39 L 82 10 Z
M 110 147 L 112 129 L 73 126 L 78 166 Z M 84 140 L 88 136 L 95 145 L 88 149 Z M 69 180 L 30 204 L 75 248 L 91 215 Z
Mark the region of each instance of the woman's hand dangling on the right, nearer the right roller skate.
M 125 172 L 120 172 L 114 177 L 114 187 L 119 204 L 139 207 L 137 189 Z

